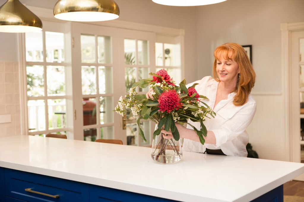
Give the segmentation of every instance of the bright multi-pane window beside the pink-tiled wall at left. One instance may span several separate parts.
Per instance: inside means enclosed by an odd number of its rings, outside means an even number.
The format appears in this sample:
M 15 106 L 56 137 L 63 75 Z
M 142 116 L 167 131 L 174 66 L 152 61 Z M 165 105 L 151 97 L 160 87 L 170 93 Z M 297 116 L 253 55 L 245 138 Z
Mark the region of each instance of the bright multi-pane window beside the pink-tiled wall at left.
M 26 33 L 25 47 L 29 134 L 67 134 L 64 33 Z

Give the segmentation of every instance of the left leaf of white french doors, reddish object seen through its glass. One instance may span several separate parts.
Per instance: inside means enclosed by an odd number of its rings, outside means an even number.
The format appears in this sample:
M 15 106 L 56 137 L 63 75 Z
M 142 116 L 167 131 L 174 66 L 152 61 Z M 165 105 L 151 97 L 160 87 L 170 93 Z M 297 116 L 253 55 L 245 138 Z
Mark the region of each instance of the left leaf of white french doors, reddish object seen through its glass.
M 120 139 L 118 30 L 71 23 L 74 101 L 74 139 Z

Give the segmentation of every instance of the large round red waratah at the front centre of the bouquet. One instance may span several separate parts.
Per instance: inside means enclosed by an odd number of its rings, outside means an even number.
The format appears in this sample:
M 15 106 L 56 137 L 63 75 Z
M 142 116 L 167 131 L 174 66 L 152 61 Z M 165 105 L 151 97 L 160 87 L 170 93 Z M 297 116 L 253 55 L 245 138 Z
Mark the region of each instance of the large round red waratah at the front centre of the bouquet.
M 175 90 L 167 90 L 158 98 L 158 111 L 170 113 L 174 109 L 181 108 L 180 97 Z

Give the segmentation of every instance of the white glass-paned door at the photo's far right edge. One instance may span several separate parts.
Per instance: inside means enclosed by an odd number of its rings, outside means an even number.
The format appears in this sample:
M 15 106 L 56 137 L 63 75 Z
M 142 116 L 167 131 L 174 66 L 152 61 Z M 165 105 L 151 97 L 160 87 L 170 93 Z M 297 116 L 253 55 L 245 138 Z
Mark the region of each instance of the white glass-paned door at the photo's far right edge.
M 291 34 L 292 161 L 304 163 L 304 31 Z M 304 181 L 304 174 L 295 180 Z

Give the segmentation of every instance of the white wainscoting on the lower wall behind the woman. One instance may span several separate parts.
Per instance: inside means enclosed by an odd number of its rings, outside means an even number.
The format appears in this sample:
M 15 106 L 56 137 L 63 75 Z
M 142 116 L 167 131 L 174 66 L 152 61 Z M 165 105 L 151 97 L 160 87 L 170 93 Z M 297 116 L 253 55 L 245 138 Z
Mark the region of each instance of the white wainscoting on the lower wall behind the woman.
M 247 128 L 249 143 L 261 159 L 289 161 L 282 94 L 252 93 L 252 96 L 257 103 L 257 111 Z

